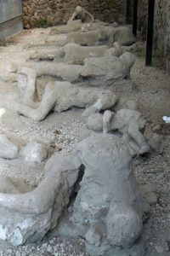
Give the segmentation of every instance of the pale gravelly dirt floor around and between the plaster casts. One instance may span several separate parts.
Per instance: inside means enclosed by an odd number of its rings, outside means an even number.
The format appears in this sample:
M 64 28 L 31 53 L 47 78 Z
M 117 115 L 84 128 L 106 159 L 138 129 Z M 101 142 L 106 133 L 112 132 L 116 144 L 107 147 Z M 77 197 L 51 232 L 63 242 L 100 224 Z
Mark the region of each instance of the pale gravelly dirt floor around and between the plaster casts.
M 43 43 L 49 29 L 36 29 L 21 32 L 10 38 L 6 47 L 0 47 L 0 76 L 4 78 L 8 64 L 14 62 L 18 67 L 24 67 L 26 57 L 33 50 L 29 46 Z M 65 38 L 64 35 L 60 36 Z M 133 160 L 134 172 L 139 186 L 145 183 L 156 185 L 158 195 L 156 205 L 151 207 L 150 218 L 145 228 L 150 230 L 150 242 L 146 256 L 170 255 L 170 125 L 163 124 L 162 116 L 170 116 L 170 77 L 156 67 L 145 67 L 144 58 L 138 57 L 137 44 L 135 52 L 137 60 L 131 72 L 131 78 L 136 84 L 133 92 L 126 93 L 128 99 L 138 102 L 139 110 L 147 121 L 145 137 L 149 140 L 154 133 L 162 135 L 163 153 L 152 151 L 148 156 Z M 14 64 L 13 63 L 13 64 Z M 15 65 L 14 64 L 14 65 Z M 16 82 L 9 83 L 0 80 L 0 94 L 15 96 Z M 65 113 L 50 113 L 42 122 L 34 122 L 11 111 L 0 109 L 0 131 L 25 141 L 47 140 L 54 143 L 54 151 L 70 151 L 75 143 L 87 137 L 88 131 L 82 119 L 81 109 L 71 109 Z M 156 125 L 161 125 L 156 131 Z M 159 147 L 159 145 L 158 145 Z M 0 160 L 0 173 L 8 176 L 22 177 L 31 187 L 42 180 L 41 166 L 27 166 L 19 157 L 18 160 Z M 37 245 L 26 247 L 0 247 L 0 255 L 55 255 L 83 256 L 83 241 L 73 241 L 62 237 L 48 236 Z

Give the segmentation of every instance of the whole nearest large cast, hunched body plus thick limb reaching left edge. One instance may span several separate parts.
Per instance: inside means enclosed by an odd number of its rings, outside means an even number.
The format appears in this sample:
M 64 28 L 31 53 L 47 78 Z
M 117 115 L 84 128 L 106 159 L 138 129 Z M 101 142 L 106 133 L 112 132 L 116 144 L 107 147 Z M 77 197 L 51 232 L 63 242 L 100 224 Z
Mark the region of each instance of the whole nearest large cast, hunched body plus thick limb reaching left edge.
M 58 224 L 82 165 L 86 172 L 73 205 L 74 232 L 80 236 L 81 228 L 87 250 L 92 246 L 96 251 L 91 255 L 133 247 L 142 233 L 148 205 L 139 194 L 126 144 L 108 134 L 84 139 L 73 154 L 54 155 L 37 189 L 25 194 L 0 193 L 0 239 L 14 246 L 41 241 Z M 100 230 L 94 230 L 95 223 Z M 91 232 L 94 241 L 89 238 Z

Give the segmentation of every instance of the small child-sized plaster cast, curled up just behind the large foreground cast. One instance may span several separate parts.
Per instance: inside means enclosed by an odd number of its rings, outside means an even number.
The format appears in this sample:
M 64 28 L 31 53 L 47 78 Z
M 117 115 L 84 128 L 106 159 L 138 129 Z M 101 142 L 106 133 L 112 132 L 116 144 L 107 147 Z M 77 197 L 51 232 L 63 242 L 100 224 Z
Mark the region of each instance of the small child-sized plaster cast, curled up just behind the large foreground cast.
M 94 131 L 119 131 L 132 155 L 146 154 L 150 147 L 141 131 L 144 130 L 145 120 L 141 113 L 132 109 L 121 109 L 117 113 L 106 110 L 104 115 L 95 113 L 88 117 L 88 128 Z

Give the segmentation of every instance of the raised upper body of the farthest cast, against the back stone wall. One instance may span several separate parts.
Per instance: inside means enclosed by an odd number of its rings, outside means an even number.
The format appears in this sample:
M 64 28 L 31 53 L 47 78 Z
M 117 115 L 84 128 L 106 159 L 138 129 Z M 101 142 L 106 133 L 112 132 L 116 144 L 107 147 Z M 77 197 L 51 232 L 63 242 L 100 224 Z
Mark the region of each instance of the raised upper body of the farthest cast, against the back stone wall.
M 82 22 L 94 22 L 94 16 L 91 15 L 86 9 L 83 9 L 81 6 L 77 6 L 75 12 L 71 15 L 71 18 L 68 20 L 68 23 L 72 20 L 82 20 Z

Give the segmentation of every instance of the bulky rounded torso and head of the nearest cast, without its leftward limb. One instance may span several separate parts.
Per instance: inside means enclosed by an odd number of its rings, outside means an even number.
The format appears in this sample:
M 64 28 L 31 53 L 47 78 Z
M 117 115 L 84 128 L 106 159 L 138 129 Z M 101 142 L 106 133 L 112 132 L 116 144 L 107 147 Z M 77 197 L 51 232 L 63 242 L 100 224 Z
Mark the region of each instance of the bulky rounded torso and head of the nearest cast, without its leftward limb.
M 141 234 L 150 207 L 139 193 L 126 143 L 111 134 L 95 134 L 76 149 L 84 174 L 58 235 L 83 237 L 91 256 L 144 256 Z

